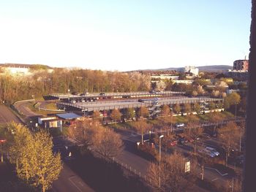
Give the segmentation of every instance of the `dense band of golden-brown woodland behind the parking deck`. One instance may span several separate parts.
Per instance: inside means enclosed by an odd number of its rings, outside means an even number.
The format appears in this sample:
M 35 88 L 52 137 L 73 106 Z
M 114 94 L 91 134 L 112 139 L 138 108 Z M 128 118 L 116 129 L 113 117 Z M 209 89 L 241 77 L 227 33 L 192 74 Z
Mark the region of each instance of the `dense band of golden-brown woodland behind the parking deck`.
M 139 72 L 105 72 L 89 69 L 45 70 L 28 77 L 0 76 L 0 101 L 31 99 L 48 93 L 149 91 L 151 77 Z

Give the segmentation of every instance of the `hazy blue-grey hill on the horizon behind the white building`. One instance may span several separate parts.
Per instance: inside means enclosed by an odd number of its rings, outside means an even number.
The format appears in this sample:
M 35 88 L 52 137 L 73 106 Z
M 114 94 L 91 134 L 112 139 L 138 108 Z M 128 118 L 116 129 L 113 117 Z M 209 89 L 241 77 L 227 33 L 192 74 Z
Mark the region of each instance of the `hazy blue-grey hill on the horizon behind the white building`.
M 226 72 L 228 69 L 233 69 L 233 66 L 229 65 L 211 65 L 211 66 L 196 66 L 199 69 L 199 72 Z M 174 71 L 181 72 L 184 67 L 170 67 L 166 69 L 146 69 L 140 71 Z

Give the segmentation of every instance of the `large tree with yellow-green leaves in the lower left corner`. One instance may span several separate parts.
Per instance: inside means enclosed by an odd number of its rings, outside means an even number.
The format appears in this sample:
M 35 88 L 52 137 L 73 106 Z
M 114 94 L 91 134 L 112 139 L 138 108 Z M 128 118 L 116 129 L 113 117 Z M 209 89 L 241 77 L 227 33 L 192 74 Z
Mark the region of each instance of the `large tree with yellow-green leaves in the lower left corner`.
M 28 128 L 11 123 L 10 162 L 15 164 L 21 180 L 47 191 L 57 180 L 62 169 L 61 155 L 53 155 L 53 142 L 48 133 L 39 131 L 32 135 Z

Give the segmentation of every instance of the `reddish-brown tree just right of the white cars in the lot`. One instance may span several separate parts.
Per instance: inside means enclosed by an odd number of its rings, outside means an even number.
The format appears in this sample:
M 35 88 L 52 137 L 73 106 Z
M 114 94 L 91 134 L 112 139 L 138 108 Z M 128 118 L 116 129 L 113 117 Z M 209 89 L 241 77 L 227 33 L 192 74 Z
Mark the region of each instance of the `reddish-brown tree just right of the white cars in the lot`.
M 222 126 L 219 128 L 220 139 L 222 140 L 223 147 L 226 152 L 226 161 L 225 164 L 227 166 L 227 159 L 230 156 L 231 147 L 238 148 L 238 141 L 240 137 L 240 131 L 236 123 L 228 122 L 226 126 Z

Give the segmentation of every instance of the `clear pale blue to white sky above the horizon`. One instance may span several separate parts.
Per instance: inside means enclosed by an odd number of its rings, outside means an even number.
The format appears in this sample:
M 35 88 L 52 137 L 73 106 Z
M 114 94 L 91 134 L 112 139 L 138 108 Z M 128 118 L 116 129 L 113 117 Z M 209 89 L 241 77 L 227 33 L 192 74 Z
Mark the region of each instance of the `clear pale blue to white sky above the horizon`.
M 233 65 L 250 0 L 0 0 L 0 63 L 134 70 Z

